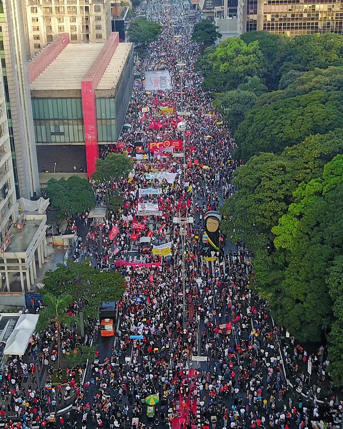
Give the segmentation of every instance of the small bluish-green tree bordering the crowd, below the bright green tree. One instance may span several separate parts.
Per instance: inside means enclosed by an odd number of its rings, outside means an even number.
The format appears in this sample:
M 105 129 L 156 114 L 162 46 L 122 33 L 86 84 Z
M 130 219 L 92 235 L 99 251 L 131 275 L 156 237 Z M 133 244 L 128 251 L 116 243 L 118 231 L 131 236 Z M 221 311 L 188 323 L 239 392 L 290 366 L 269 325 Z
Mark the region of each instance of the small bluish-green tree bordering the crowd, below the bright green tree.
M 255 106 L 257 96 L 251 91 L 233 89 L 214 95 L 213 106 L 225 115 L 226 124 L 236 130 L 243 121 L 245 112 Z

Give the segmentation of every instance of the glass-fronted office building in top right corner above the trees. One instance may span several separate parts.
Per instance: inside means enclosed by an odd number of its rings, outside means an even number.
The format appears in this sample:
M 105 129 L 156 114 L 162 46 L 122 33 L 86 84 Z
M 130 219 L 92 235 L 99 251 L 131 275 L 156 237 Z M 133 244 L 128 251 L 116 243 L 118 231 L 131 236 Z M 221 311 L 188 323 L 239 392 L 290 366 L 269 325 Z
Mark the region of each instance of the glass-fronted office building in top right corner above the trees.
M 266 30 L 270 33 L 343 34 L 341 0 L 243 0 L 243 32 Z

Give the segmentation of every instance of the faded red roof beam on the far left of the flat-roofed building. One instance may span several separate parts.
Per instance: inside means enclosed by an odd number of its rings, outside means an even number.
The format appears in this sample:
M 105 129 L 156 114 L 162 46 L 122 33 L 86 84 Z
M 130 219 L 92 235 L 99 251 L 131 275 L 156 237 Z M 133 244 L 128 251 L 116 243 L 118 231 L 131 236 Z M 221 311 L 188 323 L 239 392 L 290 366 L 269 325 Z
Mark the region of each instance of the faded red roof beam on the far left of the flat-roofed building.
M 54 61 L 69 43 L 69 33 L 60 34 L 57 39 L 40 52 L 27 66 L 29 81 L 32 83 Z

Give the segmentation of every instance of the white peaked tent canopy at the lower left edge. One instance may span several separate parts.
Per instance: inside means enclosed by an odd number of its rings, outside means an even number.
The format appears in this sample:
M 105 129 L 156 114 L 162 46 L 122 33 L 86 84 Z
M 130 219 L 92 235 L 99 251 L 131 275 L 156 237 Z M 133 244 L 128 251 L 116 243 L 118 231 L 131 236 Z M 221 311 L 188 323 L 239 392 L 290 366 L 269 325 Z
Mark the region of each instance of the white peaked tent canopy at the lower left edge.
M 21 314 L 12 334 L 6 341 L 3 354 L 19 355 L 25 353 L 29 339 L 33 334 L 38 322 L 38 314 Z

